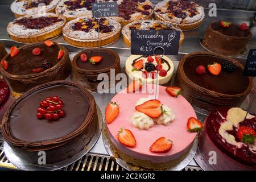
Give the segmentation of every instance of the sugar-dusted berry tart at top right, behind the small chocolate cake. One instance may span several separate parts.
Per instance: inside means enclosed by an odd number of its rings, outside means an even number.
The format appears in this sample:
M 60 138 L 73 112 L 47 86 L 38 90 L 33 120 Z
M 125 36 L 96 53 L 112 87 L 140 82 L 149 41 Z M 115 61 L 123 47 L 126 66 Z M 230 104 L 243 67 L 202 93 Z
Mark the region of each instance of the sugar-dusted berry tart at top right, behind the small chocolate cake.
M 192 30 L 204 20 L 204 8 L 192 1 L 164 0 L 155 6 L 155 19 L 172 23 L 181 30 Z

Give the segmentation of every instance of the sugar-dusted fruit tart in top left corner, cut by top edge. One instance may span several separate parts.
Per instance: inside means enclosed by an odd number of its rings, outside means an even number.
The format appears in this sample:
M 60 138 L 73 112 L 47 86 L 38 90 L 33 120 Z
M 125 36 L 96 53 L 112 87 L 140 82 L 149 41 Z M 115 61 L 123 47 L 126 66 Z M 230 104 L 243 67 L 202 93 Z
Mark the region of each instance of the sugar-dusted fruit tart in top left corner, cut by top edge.
M 11 4 L 11 11 L 16 18 L 38 14 L 44 7 L 47 13 L 55 13 L 55 8 L 59 2 L 60 0 L 15 0 Z

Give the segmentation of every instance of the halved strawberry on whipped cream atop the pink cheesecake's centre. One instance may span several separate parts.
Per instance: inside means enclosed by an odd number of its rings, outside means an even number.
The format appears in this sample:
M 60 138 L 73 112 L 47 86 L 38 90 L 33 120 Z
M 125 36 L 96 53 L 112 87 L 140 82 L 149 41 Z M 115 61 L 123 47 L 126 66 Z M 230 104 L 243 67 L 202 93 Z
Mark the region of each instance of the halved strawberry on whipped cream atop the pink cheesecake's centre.
M 159 118 L 162 114 L 161 106 L 162 104 L 159 100 L 150 100 L 136 106 L 135 109 L 146 114 L 150 118 Z

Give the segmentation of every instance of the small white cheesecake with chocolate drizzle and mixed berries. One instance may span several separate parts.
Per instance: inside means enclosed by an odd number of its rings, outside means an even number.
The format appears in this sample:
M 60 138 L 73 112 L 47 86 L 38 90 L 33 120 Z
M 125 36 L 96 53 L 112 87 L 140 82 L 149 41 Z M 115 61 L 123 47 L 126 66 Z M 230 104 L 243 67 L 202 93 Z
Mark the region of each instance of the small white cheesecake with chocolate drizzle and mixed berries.
M 137 67 L 139 62 L 142 62 L 142 68 Z M 159 67 L 157 67 L 158 64 Z M 158 78 L 159 85 L 164 85 L 171 80 L 174 73 L 174 63 L 167 56 L 163 56 L 159 60 L 157 56 L 131 55 L 125 62 L 125 71 L 132 80 L 135 78 L 150 83 L 155 82 Z

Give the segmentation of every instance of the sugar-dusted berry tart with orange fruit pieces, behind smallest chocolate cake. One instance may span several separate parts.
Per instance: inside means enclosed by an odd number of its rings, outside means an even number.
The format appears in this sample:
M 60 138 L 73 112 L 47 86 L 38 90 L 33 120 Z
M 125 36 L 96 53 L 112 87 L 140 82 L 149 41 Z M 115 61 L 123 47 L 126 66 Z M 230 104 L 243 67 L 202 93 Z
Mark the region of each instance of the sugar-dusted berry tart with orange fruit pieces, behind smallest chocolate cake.
M 77 47 L 98 47 L 115 42 L 121 32 L 121 24 L 112 18 L 101 18 L 99 22 L 90 16 L 83 16 L 68 22 L 63 28 L 64 40 Z

